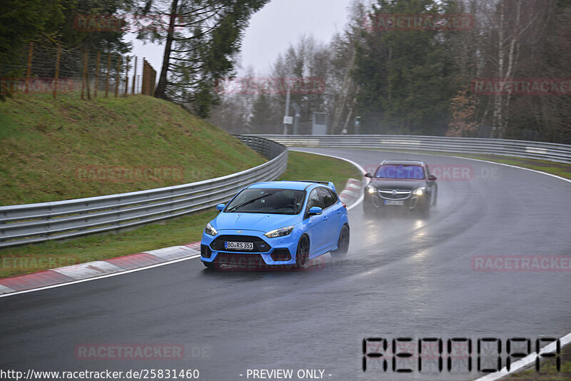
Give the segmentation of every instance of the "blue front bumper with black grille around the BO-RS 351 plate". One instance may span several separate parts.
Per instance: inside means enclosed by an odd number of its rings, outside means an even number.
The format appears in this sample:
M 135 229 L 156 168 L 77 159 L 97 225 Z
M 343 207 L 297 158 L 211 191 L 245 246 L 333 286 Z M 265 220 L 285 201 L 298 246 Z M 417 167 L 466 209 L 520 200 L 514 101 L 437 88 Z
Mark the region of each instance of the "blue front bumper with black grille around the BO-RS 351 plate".
M 254 250 L 228 250 L 223 247 L 225 241 L 252 242 Z M 298 239 L 293 233 L 284 237 L 267 238 L 263 232 L 256 230 L 243 230 L 243 233 L 236 233 L 236 230 L 219 230 L 215 236 L 202 234 L 201 260 L 217 265 L 251 269 L 293 265 L 297 247 Z M 283 260 L 287 254 L 289 254 L 289 259 Z M 280 260 L 275 260 L 275 258 Z

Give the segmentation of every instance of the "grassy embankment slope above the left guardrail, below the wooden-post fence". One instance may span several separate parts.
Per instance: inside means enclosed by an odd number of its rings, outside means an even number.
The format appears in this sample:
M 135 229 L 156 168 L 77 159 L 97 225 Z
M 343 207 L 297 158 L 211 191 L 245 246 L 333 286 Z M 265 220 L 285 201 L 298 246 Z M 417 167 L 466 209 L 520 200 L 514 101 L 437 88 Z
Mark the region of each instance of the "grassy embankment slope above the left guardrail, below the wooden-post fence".
M 150 96 L 16 94 L 0 102 L 0 205 L 192 183 L 265 161 L 220 128 Z

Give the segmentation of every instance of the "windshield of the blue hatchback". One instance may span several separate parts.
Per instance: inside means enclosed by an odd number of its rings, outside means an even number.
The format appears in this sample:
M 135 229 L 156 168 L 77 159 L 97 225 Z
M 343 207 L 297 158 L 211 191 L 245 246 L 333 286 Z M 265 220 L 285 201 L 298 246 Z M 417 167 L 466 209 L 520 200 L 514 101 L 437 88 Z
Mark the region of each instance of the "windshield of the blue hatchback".
M 298 214 L 305 191 L 293 189 L 244 189 L 226 207 L 226 213 Z

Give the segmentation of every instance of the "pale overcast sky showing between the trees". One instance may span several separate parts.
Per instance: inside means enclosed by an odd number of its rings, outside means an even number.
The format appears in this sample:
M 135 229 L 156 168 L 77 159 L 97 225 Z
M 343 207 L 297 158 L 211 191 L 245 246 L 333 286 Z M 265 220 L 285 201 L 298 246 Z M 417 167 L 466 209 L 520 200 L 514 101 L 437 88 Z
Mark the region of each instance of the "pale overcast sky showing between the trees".
M 352 1 L 271 0 L 250 20 L 242 43 L 241 66 L 253 66 L 256 73 L 264 75 L 278 54 L 285 52 L 290 44 L 297 44 L 303 34 L 313 34 L 318 41 L 330 41 L 348 21 L 348 6 Z M 138 40 L 133 43 L 133 53 L 146 57 L 160 71 L 163 46 L 143 45 Z

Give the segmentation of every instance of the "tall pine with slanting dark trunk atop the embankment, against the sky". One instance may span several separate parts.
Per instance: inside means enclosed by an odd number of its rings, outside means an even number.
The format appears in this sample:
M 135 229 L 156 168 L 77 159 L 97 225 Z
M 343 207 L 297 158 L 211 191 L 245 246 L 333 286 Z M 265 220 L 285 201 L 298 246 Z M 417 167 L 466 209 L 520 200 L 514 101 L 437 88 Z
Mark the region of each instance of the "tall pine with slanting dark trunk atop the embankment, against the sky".
M 217 103 L 216 81 L 231 75 L 248 20 L 267 2 L 172 0 L 168 9 L 163 9 L 163 4 L 149 0 L 143 13 L 169 15 L 164 31 L 139 35 L 165 42 L 155 96 L 191 103 L 198 116 L 208 117 Z

